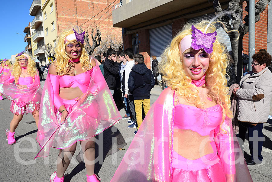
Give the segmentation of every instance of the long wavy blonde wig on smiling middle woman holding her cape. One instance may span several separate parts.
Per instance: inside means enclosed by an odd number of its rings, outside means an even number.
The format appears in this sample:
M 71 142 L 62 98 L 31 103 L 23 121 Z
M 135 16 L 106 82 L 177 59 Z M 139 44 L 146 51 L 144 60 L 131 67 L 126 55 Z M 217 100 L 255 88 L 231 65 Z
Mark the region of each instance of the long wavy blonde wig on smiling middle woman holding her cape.
M 68 44 L 75 43 L 77 41 L 67 40 L 66 44 L 64 42 L 65 42 L 65 38 L 68 35 L 73 33 L 74 33 L 73 30 L 63 31 L 60 34 L 58 39 L 58 44 L 56 47 L 56 55 L 55 55 L 56 60 L 53 62 L 53 64 L 56 66 L 56 72 L 60 76 L 67 75 L 68 73 L 71 72 L 71 67 L 73 65 L 73 62 L 69 61 L 69 60 L 72 60 L 72 58 L 69 56 L 69 54 L 67 54 L 65 47 Z M 84 44 L 81 44 L 80 42 L 78 43 L 80 44 L 80 47 L 81 47 L 79 61 L 81 63 L 82 70 L 86 72 L 92 68 L 92 64 L 91 64 L 91 61 L 89 61 L 89 55 L 86 53 Z

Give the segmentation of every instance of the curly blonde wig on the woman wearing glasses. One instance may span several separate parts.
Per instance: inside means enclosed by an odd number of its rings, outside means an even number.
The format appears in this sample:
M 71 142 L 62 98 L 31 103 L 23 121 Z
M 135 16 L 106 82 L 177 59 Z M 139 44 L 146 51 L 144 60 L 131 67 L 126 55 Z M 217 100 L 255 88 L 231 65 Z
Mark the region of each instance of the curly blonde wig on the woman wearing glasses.
M 20 58 L 27 58 L 25 55 L 27 55 L 29 57 L 28 59 L 28 68 L 27 68 L 27 74 L 30 75 L 34 81 L 35 79 L 35 76 L 37 75 L 37 68 L 36 68 L 36 63 L 35 61 L 32 59 L 32 57 L 26 53 L 24 54 L 21 54 L 20 56 L 18 57 L 15 57 L 15 63 L 13 64 L 13 68 L 12 68 L 12 71 L 11 71 L 11 75 L 14 76 L 14 82 L 16 84 L 18 84 L 18 80 L 19 80 L 19 77 L 20 75 L 22 74 L 22 68 L 18 62 L 18 59 Z

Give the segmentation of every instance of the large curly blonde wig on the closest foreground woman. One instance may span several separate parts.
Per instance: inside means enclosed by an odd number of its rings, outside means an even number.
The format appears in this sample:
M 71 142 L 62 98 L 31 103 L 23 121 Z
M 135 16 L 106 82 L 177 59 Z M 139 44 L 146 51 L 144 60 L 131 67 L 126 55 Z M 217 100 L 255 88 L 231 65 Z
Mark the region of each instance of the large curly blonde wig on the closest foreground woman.
M 201 21 L 194 24 L 194 26 L 204 32 L 208 23 L 209 21 Z M 215 23 L 217 22 L 212 22 L 206 33 L 216 31 Z M 179 50 L 180 41 L 186 35 L 191 34 L 191 27 L 192 24 L 185 24 L 183 30 L 173 38 L 170 46 L 164 50 L 164 53 L 161 55 L 162 61 L 159 63 L 159 71 L 162 73 L 162 78 L 166 81 L 167 86 L 175 90 L 177 96 L 183 97 L 186 102 L 194 104 L 198 108 L 203 108 L 205 103 L 200 100 L 197 87 L 191 84 L 191 78 L 186 75 L 183 69 L 182 56 Z M 227 80 L 225 79 L 228 60 L 224 49 L 216 39 L 213 43 L 213 52 L 210 54 L 209 68 L 205 77 L 209 90 L 208 95 L 223 109 L 223 120 L 225 116 L 232 117 L 228 87 L 226 87 Z M 182 54 L 186 52 L 189 52 L 189 49 Z

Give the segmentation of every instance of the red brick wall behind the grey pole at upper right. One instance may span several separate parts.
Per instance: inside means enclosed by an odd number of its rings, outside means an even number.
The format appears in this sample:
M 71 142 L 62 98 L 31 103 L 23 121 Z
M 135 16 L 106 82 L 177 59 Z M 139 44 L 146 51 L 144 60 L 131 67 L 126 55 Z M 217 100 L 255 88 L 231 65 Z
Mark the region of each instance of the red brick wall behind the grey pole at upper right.
M 257 2 L 257 0 L 255 0 Z M 243 19 L 248 14 L 244 10 L 246 2 L 243 2 Z M 268 6 L 260 15 L 260 20 L 255 23 L 255 52 L 259 52 L 260 49 L 267 49 L 267 18 L 268 18 Z M 245 34 L 243 39 L 244 53 L 248 54 L 248 33 Z

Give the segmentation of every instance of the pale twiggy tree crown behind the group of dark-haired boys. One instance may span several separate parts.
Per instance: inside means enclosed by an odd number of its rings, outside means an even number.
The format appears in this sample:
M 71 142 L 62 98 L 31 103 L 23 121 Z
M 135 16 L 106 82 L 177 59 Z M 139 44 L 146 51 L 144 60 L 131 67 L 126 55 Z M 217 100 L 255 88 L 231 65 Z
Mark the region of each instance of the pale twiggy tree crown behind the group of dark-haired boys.
M 109 48 L 114 50 L 122 50 L 123 42 L 120 38 L 107 34 L 107 36 L 101 41 L 100 46 L 96 48 L 95 54 L 103 54 L 104 52 L 107 52 Z

